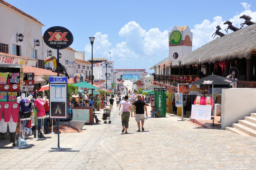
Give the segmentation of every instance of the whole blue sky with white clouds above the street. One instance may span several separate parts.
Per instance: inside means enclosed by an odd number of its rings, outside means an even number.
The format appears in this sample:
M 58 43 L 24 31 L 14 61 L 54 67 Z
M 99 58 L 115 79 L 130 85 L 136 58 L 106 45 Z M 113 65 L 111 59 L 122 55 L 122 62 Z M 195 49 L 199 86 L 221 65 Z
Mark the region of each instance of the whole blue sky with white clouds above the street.
M 239 16 L 247 14 L 256 22 L 256 1 L 205 0 L 6 0 L 41 21 L 44 31 L 52 26 L 68 28 L 74 42 L 71 48 L 91 57 L 90 36 L 95 36 L 93 57 L 115 61 L 118 69 L 145 68 L 149 73 L 168 57 L 168 32 L 188 25 L 193 32 L 193 50 L 213 40 L 211 35 L 226 20 L 238 27 Z M 251 10 L 252 9 L 252 10 Z M 229 33 L 231 33 L 230 31 Z M 42 34 L 43 34 L 42 33 Z M 136 65 L 136 66 L 135 66 Z

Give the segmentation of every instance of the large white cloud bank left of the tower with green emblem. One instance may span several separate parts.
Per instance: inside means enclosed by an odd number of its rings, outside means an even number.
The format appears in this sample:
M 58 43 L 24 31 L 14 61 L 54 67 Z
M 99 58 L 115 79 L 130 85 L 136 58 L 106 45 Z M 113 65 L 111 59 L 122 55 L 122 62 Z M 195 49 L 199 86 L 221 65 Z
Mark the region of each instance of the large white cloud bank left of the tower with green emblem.
M 168 56 L 168 31 L 161 32 L 158 28 L 146 31 L 135 21 L 128 22 L 119 31 L 119 36 L 125 41 L 117 43 L 111 48 L 108 35 L 97 32 L 93 43 L 93 56 L 109 58 L 118 63 L 118 68 L 144 67 L 148 69 L 158 60 Z M 86 58 L 91 55 L 91 44 L 86 44 Z M 116 65 L 115 65 L 116 66 Z M 142 66 L 142 67 L 141 67 Z

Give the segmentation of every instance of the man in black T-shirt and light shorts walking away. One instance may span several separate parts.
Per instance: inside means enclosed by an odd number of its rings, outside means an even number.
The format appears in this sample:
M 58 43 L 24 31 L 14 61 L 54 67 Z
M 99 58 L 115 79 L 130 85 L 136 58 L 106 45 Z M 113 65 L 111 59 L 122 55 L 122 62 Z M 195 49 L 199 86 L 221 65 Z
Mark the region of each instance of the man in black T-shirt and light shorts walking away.
M 141 130 L 144 131 L 144 128 L 143 128 L 144 120 L 145 120 L 144 109 L 146 111 L 146 115 L 148 115 L 148 111 L 147 111 L 146 103 L 143 100 L 141 100 L 142 99 L 141 95 L 138 95 L 137 98 L 138 100 L 136 100 L 133 103 L 133 109 L 135 110 L 135 113 L 134 113 L 135 120 L 139 128 L 138 132 L 140 132 L 140 121 L 141 121 Z

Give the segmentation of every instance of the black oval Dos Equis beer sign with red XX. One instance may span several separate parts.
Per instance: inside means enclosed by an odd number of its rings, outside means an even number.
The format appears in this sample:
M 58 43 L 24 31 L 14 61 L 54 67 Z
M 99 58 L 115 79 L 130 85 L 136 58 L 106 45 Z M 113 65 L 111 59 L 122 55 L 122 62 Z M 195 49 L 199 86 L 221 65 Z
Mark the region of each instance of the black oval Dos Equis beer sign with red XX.
M 64 27 L 55 26 L 44 32 L 44 43 L 53 49 L 65 49 L 73 43 L 73 35 Z

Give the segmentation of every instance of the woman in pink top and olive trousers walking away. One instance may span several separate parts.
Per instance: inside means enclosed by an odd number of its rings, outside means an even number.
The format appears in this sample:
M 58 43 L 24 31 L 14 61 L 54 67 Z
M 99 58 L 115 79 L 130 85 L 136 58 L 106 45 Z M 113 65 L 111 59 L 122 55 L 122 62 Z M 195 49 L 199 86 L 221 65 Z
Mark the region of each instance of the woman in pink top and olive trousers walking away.
M 123 105 L 123 113 L 121 115 L 121 117 L 122 117 L 122 126 L 123 126 L 122 133 L 124 133 L 124 128 L 125 128 L 125 133 L 128 133 L 127 128 L 129 127 L 130 112 L 131 112 L 131 116 L 132 116 L 132 107 L 131 107 L 130 102 L 128 102 L 128 96 L 125 96 L 124 101 L 122 101 L 120 103 L 119 110 L 121 108 L 121 105 Z

